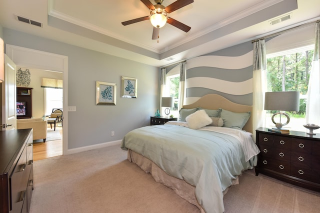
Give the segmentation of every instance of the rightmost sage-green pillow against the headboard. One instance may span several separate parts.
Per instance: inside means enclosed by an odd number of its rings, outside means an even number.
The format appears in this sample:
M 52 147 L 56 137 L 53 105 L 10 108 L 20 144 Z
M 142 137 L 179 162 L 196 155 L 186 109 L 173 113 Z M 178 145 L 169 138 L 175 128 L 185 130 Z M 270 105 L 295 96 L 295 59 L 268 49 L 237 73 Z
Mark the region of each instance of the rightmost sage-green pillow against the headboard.
M 242 130 L 242 127 L 248 121 L 251 112 L 232 112 L 221 109 L 220 117 L 223 120 L 223 127 L 235 128 Z

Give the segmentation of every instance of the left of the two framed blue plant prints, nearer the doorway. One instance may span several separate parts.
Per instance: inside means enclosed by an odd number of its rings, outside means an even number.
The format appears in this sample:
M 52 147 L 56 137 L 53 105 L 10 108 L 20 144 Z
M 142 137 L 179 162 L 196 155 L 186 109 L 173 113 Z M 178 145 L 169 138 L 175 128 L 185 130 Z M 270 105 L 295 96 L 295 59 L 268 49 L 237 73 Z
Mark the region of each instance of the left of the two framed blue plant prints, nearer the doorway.
M 95 105 L 115 105 L 116 84 L 95 81 Z

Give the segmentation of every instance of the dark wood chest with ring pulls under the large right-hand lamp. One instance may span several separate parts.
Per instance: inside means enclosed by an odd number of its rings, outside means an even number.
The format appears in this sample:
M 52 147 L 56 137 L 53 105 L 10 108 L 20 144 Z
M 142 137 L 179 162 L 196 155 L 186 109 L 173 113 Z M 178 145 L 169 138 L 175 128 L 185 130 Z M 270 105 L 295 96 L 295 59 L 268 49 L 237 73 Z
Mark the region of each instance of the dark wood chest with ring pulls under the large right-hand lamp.
M 281 134 L 258 128 L 256 144 L 260 149 L 255 174 L 320 191 L 320 134 L 290 131 Z

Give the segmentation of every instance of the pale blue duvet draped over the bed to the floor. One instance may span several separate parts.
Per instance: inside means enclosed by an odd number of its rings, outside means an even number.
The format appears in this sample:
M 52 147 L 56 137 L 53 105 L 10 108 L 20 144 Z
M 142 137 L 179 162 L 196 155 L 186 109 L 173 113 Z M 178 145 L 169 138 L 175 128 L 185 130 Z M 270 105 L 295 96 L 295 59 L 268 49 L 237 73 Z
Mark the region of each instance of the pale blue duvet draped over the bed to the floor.
M 206 212 L 224 211 L 222 191 L 243 170 L 256 165 L 259 152 L 251 135 L 241 130 L 172 124 L 134 129 L 124 136 L 121 148 L 147 157 L 167 174 L 195 186 L 195 197 Z

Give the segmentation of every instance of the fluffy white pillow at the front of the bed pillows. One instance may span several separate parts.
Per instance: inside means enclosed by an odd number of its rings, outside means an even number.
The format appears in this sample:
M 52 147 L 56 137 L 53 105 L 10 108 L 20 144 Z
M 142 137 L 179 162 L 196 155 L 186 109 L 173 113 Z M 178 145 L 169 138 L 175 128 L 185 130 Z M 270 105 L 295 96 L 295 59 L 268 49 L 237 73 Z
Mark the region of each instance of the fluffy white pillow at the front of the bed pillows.
M 209 117 L 209 115 L 207 115 L 207 113 L 203 109 L 197 110 L 194 113 L 188 115 L 185 118 L 185 121 L 188 123 L 189 128 L 193 129 L 198 129 L 212 123 L 211 117 Z

